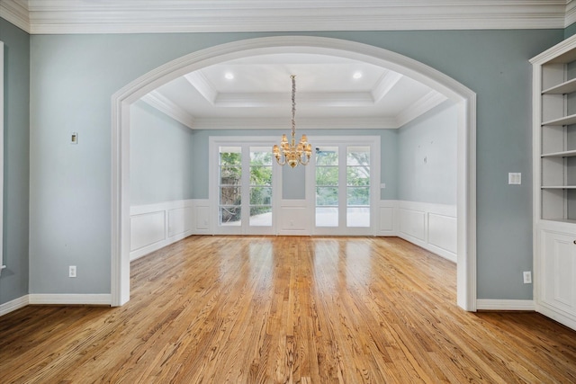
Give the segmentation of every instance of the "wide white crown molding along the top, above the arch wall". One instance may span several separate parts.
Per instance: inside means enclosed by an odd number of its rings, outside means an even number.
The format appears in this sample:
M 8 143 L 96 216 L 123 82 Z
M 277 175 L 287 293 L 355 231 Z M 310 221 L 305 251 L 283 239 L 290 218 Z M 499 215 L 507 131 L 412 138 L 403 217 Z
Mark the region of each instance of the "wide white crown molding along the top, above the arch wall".
M 563 29 L 572 0 L 0 0 L 31 34 Z

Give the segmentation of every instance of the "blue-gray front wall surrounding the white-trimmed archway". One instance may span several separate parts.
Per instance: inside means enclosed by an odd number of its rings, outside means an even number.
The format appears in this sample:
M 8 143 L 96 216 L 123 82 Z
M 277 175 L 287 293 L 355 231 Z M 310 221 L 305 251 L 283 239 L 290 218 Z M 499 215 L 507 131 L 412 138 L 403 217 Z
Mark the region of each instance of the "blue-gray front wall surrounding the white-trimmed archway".
M 532 298 L 519 274 L 532 268 L 528 59 L 564 31 L 305 34 L 390 49 L 477 93 L 478 298 Z M 110 292 L 111 95 L 187 53 L 270 35 L 31 36 L 31 293 Z M 67 144 L 70 131 L 81 144 Z M 509 188 L 508 172 L 524 174 L 523 184 Z M 69 264 L 78 266 L 76 279 L 67 278 Z

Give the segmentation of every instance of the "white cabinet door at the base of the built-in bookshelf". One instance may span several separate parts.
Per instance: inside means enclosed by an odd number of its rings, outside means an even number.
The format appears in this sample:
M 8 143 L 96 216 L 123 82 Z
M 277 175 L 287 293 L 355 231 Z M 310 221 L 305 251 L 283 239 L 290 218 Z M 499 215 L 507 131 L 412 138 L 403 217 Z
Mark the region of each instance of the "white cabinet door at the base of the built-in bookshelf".
M 576 236 L 544 229 L 540 236 L 538 296 L 544 304 L 576 315 Z

